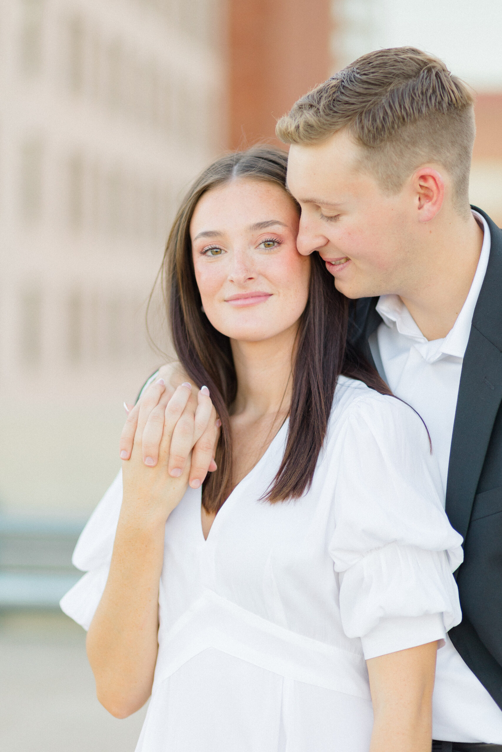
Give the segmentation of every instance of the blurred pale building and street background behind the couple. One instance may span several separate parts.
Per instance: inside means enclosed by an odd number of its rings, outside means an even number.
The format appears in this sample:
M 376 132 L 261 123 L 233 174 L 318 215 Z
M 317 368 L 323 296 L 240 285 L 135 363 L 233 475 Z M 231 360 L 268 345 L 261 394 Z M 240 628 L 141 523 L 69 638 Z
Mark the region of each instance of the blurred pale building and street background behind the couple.
M 190 180 L 355 57 L 413 44 L 476 89 L 471 199 L 502 223 L 501 32 L 499 0 L 0 0 L 2 750 L 135 747 L 144 711 L 101 708 L 57 602 L 122 402 L 162 362 L 145 305 Z

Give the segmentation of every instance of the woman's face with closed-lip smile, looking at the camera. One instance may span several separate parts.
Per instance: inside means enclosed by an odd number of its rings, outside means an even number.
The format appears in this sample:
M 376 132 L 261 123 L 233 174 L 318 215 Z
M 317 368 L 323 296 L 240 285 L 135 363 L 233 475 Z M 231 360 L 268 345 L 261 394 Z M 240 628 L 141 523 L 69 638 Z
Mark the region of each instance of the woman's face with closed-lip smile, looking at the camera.
M 298 226 L 293 200 L 274 183 L 239 178 L 202 196 L 190 223 L 193 267 L 218 332 L 257 342 L 297 323 L 310 277 Z

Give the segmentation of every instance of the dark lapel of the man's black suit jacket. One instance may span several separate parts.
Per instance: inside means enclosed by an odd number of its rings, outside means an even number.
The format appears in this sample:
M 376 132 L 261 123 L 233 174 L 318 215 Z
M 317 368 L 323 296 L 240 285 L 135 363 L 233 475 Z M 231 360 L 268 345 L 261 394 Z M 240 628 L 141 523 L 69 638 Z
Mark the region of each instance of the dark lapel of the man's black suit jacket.
M 476 211 L 488 222 L 491 249 L 464 355 L 446 484 L 446 513 L 464 538 L 502 400 L 502 231 Z

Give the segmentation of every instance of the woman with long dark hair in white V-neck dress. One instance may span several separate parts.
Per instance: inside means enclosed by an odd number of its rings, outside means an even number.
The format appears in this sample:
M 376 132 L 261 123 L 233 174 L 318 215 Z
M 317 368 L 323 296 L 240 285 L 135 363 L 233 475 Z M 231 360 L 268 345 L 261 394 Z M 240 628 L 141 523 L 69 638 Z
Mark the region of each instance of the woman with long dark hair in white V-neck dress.
M 183 417 L 182 384 L 154 467 L 138 424 L 62 601 L 89 627 L 105 708 L 124 717 L 152 694 L 141 752 L 431 749 L 461 537 L 423 423 L 346 352 L 347 301 L 297 252 L 286 161 L 225 156 L 184 200 L 164 277 L 199 414 Z M 162 380 L 148 389 L 157 404 Z M 201 493 L 167 458 L 211 399 L 218 469 Z

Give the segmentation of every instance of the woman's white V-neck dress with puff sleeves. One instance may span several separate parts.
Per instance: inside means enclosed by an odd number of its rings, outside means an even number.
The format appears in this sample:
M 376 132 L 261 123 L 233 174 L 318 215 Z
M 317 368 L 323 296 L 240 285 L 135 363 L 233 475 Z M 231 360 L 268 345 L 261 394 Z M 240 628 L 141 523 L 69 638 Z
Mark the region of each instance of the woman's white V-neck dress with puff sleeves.
M 366 658 L 461 620 L 427 433 L 402 402 L 340 378 L 324 449 L 297 501 L 260 501 L 287 423 L 204 540 L 200 490 L 166 523 L 159 653 L 136 752 L 367 752 Z M 108 577 L 120 475 L 75 549 L 62 610 L 87 628 Z

